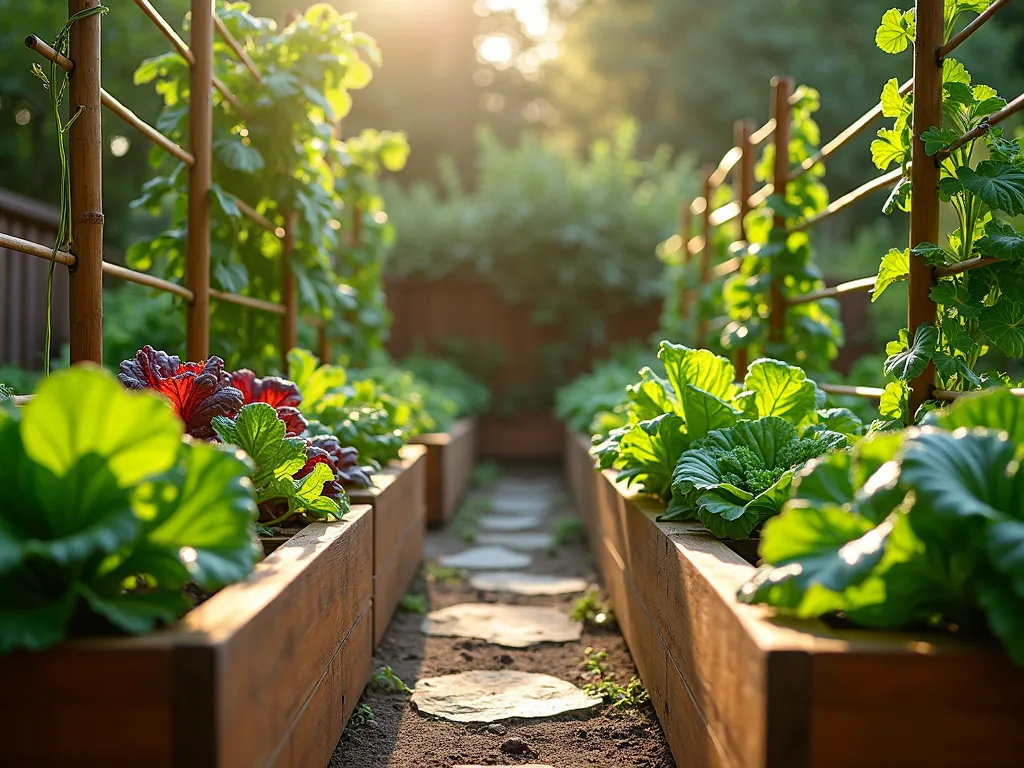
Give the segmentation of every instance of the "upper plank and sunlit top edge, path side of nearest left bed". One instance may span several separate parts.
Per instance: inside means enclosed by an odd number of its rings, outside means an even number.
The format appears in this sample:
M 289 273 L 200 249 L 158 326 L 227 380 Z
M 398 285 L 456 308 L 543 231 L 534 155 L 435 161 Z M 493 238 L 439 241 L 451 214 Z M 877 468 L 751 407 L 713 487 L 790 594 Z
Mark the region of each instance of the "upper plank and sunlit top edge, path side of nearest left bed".
M 309 525 L 182 621 L 183 644 L 216 653 L 217 766 L 262 765 L 287 741 L 371 597 L 372 536 L 365 506 L 340 523 Z

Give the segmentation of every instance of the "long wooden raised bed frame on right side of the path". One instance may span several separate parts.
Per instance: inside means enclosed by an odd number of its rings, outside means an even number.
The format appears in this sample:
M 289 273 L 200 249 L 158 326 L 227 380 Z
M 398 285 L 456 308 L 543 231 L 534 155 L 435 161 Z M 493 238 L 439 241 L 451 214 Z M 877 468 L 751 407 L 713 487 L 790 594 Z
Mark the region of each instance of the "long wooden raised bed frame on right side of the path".
M 753 566 L 701 526 L 656 522 L 610 472 L 592 498 L 597 565 L 680 765 L 1021 764 L 1024 671 L 994 645 L 741 605 Z

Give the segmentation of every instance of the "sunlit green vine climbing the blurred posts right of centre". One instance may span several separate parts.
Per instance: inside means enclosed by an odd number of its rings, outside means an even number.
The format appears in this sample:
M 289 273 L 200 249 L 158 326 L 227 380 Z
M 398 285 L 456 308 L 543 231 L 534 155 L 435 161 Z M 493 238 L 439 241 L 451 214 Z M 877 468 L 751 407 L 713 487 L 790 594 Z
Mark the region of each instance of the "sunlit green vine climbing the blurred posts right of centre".
M 817 151 L 821 135 L 813 115 L 819 96 L 802 87 L 793 105 L 790 165 L 799 166 Z M 757 168 L 760 181 L 770 182 L 775 146 L 769 144 Z M 778 339 L 769 338 L 768 314 L 772 286 L 783 297 L 824 287 L 821 270 L 814 263 L 811 241 L 805 232 L 786 234 L 798 224 L 828 205 L 828 190 L 821 177 L 821 164 L 786 185 L 785 199 L 773 196 L 768 205 L 746 219 L 748 248 L 740 270 L 724 288 L 725 309 L 731 321 L 722 332 L 726 349 L 746 348 L 751 357 L 766 355 L 808 371 L 826 371 L 843 341 L 839 305 L 833 299 L 798 304 L 785 310 Z

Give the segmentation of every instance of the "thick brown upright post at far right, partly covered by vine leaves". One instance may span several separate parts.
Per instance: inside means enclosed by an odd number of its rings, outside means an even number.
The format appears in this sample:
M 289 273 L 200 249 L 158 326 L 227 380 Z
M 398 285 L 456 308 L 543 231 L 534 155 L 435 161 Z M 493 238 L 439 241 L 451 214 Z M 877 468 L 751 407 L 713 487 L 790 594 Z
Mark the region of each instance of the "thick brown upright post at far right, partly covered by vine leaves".
M 939 242 L 939 164 L 925 152 L 921 134 L 942 125 L 942 65 L 938 50 L 944 37 L 943 1 L 916 0 L 918 38 L 913 55 L 913 168 L 910 179 L 910 248 L 922 243 Z M 935 302 L 929 295 L 935 285 L 933 268 L 924 259 L 910 254 L 910 278 L 907 290 L 907 329 L 912 341 L 918 328 L 935 323 Z M 935 367 L 929 362 L 925 372 L 910 383 L 907 422 L 935 389 Z

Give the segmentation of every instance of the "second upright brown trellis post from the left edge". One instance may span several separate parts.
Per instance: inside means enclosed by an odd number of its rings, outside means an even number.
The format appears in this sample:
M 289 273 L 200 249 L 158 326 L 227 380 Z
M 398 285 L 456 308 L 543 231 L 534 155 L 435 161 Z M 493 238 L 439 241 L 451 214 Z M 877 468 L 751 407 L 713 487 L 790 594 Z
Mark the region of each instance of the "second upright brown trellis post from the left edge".
M 196 163 L 188 169 L 188 305 L 185 348 L 190 360 L 210 354 L 210 189 L 213 166 L 213 0 L 191 0 L 190 47 L 196 58 L 189 81 L 188 143 Z

